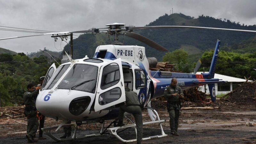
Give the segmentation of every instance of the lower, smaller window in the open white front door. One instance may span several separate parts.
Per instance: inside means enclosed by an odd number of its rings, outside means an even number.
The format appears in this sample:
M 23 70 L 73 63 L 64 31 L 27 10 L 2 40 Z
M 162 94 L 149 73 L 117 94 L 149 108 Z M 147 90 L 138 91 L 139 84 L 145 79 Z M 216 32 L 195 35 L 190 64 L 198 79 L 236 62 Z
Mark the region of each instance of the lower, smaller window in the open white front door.
M 100 94 L 99 104 L 105 105 L 110 102 L 118 100 L 122 95 L 121 89 L 119 87 L 113 88 L 107 92 Z

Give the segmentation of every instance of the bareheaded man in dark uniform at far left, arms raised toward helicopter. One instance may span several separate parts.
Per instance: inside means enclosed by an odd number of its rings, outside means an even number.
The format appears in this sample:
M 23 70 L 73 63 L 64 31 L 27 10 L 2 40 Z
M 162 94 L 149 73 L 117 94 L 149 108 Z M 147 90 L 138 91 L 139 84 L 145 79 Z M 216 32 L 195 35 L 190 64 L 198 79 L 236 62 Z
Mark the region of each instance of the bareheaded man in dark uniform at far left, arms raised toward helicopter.
M 27 125 L 27 135 L 28 142 L 36 142 L 37 140 L 34 139 L 36 136 L 36 131 L 38 128 L 38 120 L 36 118 L 36 104 L 35 98 L 39 93 L 39 89 L 41 87 L 34 87 L 33 84 L 28 84 L 27 89 L 28 91 L 24 93 L 23 100 L 25 111 L 24 115 L 28 118 L 28 125 Z

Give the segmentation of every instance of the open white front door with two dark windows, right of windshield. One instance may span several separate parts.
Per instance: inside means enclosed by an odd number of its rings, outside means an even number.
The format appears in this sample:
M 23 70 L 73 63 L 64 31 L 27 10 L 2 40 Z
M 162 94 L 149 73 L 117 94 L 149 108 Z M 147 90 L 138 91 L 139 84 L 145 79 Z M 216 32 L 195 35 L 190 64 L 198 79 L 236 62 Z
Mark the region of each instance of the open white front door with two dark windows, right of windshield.
M 124 77 L 119 58 L 100 68 L 94 110 L 96 112 L 124 101 Z

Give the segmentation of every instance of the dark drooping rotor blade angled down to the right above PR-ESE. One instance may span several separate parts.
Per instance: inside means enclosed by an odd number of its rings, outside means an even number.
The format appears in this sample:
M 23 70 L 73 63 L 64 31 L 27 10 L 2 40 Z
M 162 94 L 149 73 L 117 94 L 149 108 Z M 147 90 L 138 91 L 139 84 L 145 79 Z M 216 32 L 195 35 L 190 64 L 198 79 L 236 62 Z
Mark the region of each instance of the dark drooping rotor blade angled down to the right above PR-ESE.
M 136 39 L 136 40 L 138 40 L 138 41 L 141 41 L 142 43 L 147 44 L 147 45 L 149 45 L 150 47 L 152 47 L 152 48 L 154 48 L 154 49 L 156 49 L 156 50 L 158 50 L 158 51 L 161 51 L 161 52 L 169 52 L 169 51 L 168 51 L 167 49 L 165 49 L 163 46 L 157 44 L 156 42 L 154 42 L 154 41 L 148 39 L 148 38 L 145 37 L 145 36 L 141 36 L 141 35 L 136 34 L 136 33 L 133 33 L 133 32 L 126 33 L 125 35 L 126 35 L 126 36 L 129 36 L 129 37 L 131 37 L 131 38 L 134 38 L 134 39 Z

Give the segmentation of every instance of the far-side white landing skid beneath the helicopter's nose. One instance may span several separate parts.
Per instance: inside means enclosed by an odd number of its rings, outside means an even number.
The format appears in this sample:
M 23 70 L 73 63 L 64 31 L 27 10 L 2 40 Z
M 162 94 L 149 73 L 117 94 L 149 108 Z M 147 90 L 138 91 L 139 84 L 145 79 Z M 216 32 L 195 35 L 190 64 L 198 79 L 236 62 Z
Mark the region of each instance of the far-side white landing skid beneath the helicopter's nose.
M 92 122 L 83 122 L 82 124 L 91 124 L 91 123 L 94 123 L 94 122 L 93 122 L 93 121 L 92 121 Z M 65 124 L 65 125 L 63 125 L 62 127 L 68 127 L 68 126 L 72 126 L 72 125 L 76 125 L 76 123 Z M 52 135 L 52 133 L 51 133 L 51 130 L 58 128 L 58 126 L 53 126 L 53 127 L 48 127 L 48 128 L 42 128 L 42 130 L 43 130 L 43 132 L 44 132 L 46 135 L 48 135 L 50 138 L 52 138 L 52 139 L 55 140 L 55 141 L 67 141 L 67 140 L 77 140 L 77 139 L 83 139 L 83 138 L 88 138 L 88 137 L 100 136 L 100 135 L 102 135 L 102 132 L 103 132 L 103 129 L 104 129 L 104 125 L 105 125 L 105 121 L 104 121 L 103 124 L 102 124 L 102 128 L 101 128 L 100 133 L 98 133 L 98 134 L 89 134 L 89 135 L 80 136 L 80 137 L 77 137 L 77 136 L 76 136 L 76 131 L 77 131 L 77 125 L 76 125 L 73 136 L 72 136 L 71 138 L 63 138 L 63 139 L 57 138 L 57 137 L 55 137 L 54 135 Z

